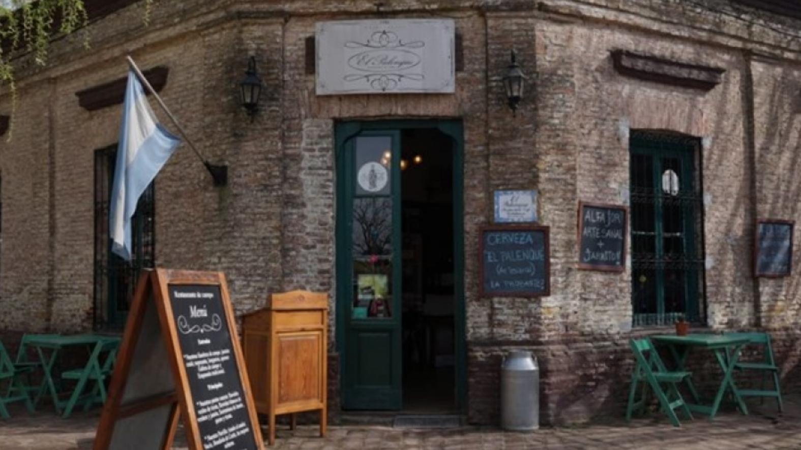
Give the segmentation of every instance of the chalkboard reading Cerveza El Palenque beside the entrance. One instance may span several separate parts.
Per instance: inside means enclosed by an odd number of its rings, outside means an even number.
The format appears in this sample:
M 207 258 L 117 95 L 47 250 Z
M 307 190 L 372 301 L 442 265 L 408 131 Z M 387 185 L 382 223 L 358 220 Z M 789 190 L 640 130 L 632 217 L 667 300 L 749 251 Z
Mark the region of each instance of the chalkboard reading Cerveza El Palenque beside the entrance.
M 481 229 L 481 296 L 550 294 L 549 229 L 497 225 Z

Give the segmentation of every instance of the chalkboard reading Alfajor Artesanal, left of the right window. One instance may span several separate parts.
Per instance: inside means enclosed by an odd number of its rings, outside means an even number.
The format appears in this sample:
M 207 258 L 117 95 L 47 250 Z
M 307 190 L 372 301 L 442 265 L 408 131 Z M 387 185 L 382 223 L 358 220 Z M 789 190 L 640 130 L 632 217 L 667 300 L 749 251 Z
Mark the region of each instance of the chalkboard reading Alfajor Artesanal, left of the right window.
M 625 206 L 579 202 L 579 269 L 626 269 L 627 212 Z

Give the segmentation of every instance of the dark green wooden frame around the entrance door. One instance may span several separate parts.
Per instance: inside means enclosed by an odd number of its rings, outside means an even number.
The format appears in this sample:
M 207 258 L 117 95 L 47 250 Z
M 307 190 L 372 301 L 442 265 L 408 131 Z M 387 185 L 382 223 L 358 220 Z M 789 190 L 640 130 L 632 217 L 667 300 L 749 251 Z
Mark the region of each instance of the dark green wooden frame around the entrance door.
M 454 356 L 455 356 L 455 384 L 456 407 L 459 412 L 467 410 L 467 337 L 465 315 L 465 220 L 464 220 L 464 150 L 465 137 L 461 119 L 409 119 L 409 120 L 374 120 L 374 121 L 339 121 L 335 124 L 335 170 L 336 170 L 336 233 L 335 248 L 344 241 L 345 211 L 340 209 L 344 205 L 344 196 L 347 195 L 344 173 L 345 142 L 356 134 L 368 130 L 403 130 L 403 129 L 437 129 L 453 140 L 453 297 L 454 297 Z M 338 250 L 338 249 L 337 249 Z M 345 257 L 349 253 L 336 251 L 335 280 L 342 278 Z M 348 274 L 348 279 L 350 274 Z M 346 364 L 345 354 L 345 313 L 342 298 L 347 289 L 343 283 L 336 282 L 336 351 L 340 354 L 340 396 L 344 396 L 343 367 Z M 401 323 L 401 327 L 402 327 Z

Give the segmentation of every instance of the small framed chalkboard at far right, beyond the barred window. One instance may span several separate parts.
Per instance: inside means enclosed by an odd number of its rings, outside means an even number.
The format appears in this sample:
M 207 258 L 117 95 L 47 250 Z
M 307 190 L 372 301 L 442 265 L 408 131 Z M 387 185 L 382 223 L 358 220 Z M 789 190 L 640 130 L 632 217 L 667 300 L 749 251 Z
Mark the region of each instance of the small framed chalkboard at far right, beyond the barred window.
M 755 273 L 757 277 L 787 277 L 792 270 L 793 221 L 757 221 Z

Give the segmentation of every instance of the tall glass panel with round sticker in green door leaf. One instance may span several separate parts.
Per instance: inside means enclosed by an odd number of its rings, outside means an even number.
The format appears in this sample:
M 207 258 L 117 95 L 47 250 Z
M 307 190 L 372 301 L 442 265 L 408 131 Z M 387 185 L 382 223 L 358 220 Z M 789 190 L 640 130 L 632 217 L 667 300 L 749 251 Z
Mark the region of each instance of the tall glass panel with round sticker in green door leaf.
M 391 137 L 356 137 L 353 319 L 392 317 Z

